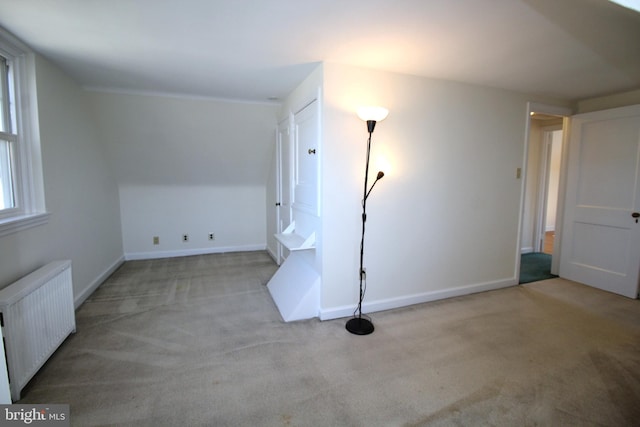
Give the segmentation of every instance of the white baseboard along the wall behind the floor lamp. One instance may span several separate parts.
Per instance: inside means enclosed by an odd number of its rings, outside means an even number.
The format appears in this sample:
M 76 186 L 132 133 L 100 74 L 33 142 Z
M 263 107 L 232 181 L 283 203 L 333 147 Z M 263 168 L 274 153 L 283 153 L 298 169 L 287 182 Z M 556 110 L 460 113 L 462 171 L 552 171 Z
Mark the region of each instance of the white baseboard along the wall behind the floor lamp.
M 496 280 L 493 282 L 478 283 L 474 285 L 459 286 L 456 288 L 442 289 L 438 291 L 424 292 L 420 294 L 389 298 L 384 300 L 362 303 L 363 313 L 375 313 L 378 311 L 391 310 L 394 308 L 407 307 L 425 302 L 437 301 L 446 298 L 459 297 L 462 295 L 475 294 L 478 292 L 493 291 L 496 289 L 515 286 L 518 281 L 515 278 Z M 356 305 L 348 305 L 341 307 L 333 307 L 330 309 L 320 310 L 320 320 L 339 319 L 342 317 L 353 316 Z

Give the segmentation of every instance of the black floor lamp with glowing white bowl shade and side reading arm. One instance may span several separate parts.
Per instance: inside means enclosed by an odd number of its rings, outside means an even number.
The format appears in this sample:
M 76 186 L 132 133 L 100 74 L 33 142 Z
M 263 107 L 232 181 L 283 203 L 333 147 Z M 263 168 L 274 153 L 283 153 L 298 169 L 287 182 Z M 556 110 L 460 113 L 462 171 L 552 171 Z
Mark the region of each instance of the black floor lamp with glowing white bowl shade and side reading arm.
M 356 335 L 369 335 L 373 332 L 373 323 L 371 320 L 362 317 L 362 300 L 364 299 L 364 293 L 366 290 L 367 274 L 365 272 L 364 263 L 364 231 L 365 223 L 367 222 L 367 199 L 369 194 L 376 183 L 382 179 L 384 172 L 378 172 L 376 180 L 371 185 L 371 188 L 367 190 L 368 178 L 369 178 L 369 155 L 371 153 L 371 134 L 376 127 L 376 123 L 384 120 L 389 114 L 389 110 L 382 107 L 366 107 L 358 110 L 358 117 L 367 122 L 367 131 L 369 132 L 369 139 L 367 140 L 367 161 L 364 170 L 364 191 L 362 195 L 362 240 L 360 240 L 360 298 L 358 299 L 358 308 L 353 314 L 353 318 L 349 319 L 346 328 L 347 331 Z M 363 287 L 364 284 L 364 287 Z M 357 313 L 357 314 L 356 314 Z

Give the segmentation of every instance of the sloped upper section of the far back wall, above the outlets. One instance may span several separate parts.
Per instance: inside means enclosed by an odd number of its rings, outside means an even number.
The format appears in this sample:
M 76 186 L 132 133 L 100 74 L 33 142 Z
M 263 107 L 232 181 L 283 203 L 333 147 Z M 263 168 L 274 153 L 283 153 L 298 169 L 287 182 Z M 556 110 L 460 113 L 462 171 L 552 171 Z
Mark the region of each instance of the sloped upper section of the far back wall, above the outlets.
M 277 105 L 90 93 L 121 185 L 261 186 Z

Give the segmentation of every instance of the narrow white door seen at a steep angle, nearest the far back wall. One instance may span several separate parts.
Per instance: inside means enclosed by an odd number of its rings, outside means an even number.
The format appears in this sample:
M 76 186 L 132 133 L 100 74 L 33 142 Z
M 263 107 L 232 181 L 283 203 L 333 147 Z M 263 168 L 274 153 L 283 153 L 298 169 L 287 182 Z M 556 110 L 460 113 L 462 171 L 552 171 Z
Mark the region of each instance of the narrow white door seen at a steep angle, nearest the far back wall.
M 291 223 L 291 177 L 292 177 L 292 150 L 291 150 L 291 128 L 289 120 L 284 120 L 278 125 L 277 137 L 278 149 L 278 226 L 277 233 L 287 228 Z M 280 265 L 289 255 L 289 251 L 278 243 L 278 265 Z

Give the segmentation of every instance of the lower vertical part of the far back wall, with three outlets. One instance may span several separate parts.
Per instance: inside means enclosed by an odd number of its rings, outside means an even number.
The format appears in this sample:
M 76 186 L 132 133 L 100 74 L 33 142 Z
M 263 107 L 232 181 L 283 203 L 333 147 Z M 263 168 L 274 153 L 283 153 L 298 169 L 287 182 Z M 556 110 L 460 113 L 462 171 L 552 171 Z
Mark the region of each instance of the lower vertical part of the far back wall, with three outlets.
M 127 259 L 265 249 L 264 186 L 124 185 L 120 203 Z

